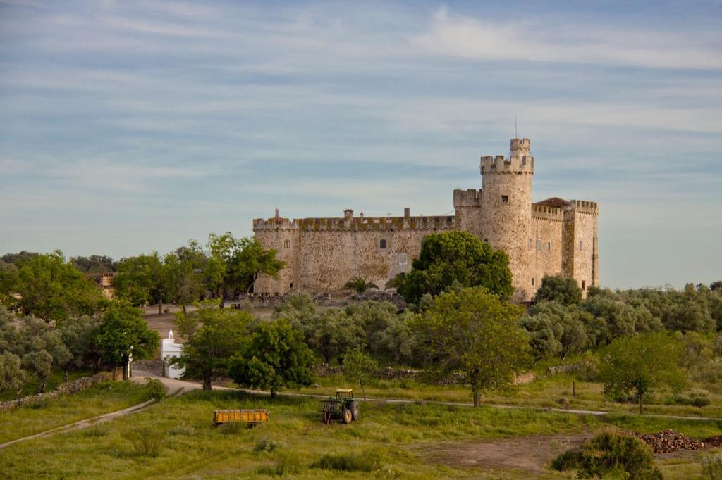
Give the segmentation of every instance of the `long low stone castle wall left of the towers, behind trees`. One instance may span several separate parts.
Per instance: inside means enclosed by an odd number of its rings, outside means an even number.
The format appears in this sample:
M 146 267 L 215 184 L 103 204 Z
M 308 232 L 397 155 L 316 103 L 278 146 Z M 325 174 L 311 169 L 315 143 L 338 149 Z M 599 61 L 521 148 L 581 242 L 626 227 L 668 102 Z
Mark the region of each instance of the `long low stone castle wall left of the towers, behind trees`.
M 254 290 L 332 292 L 357 276 L 384 288 L 389 279 L 411 270 L 425 236 L 455 228 L 453 216 L 257 220 L 256 238 L 265 248 L 277 249 L 287 267 L 279 280 L 261 275 Z

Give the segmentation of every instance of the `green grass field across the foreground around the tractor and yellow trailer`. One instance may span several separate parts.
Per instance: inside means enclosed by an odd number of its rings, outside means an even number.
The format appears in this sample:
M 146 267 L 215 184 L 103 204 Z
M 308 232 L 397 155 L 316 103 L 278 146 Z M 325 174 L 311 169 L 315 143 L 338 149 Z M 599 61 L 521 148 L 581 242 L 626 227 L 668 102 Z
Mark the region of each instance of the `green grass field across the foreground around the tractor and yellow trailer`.
M 75 406 L 69 409 L 73 417 L 84 416 L 85 412 L 85 416 L 92 417 L 101 401 L 141 400 L 138 397 L 142 396 L 142 389 L 129 383 L 110 383 L 80 395 L 58 399 L 57 405 L 51 402 L 42 408 L 17 409 L 3 417 L 1 430 L 22 427 L 33 416 L 58 421 L 58 413 L 66 412 L 70 405 Z M 122 400 L 118 398 L 121 396 Z M 695 437 L 722 432 L 720 422 L 630 415 L 600 419 L 529 409 L 472 409 L 435 404 L 362 404 L 358 422 L 325 425 L 319 421 L 317 401 L 288 397 L 271 400 L 234 391 L 194 391 L 164 403 L 86 430 L 11 445 L 0 450 L 0 476 L 556 479 L 572 475 L 543 467 L 530 473 L 459 466 L 444 460 L 445 453 L 439 451 L 439 445 L 519 438 L 529 439 L 533 446 L 544 439 L 539 435 L 593 435 L 617 427 L 643 431 L 675 428 Z M 226 408 L 269 409 L 271 420 L 254 429 L 214 427 L 214 409 Z M 65 418 L 61 423 L 70 421 Z M 139 441 L 140 438 L 144 441 Z M 699 455 L 663 459 L 660 464 L 666 478 L 698 478 L 701 472 Z

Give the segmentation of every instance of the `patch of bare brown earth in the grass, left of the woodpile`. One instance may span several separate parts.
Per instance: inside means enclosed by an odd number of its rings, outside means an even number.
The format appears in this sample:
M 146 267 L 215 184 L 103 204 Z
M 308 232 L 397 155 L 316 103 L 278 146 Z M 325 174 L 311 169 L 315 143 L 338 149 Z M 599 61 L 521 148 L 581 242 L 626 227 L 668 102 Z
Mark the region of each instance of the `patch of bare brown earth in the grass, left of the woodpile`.
M 416 450 L 425 461 L 445 466 L 544 473 L 554 457 L 578 448 L 589 437 L 534 435 L 484 442 L 427 443 Z

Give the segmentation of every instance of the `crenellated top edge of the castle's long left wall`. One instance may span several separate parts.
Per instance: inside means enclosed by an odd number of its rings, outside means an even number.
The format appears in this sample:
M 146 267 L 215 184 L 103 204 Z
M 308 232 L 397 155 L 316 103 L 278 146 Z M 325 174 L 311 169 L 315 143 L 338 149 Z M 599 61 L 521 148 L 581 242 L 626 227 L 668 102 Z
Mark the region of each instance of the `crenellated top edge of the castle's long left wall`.
M 453 230 L 453 215 L 409 217 L 352 217 L 352 218 L 257 218 L 253 231 L 375 231 L 375 230 Z

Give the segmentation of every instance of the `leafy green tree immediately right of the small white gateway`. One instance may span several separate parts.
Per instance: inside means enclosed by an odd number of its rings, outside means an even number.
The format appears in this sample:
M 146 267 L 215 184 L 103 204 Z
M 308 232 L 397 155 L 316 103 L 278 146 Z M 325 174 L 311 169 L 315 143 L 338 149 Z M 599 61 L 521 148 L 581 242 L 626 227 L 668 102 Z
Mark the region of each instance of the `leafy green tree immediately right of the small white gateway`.
M 185 367 L 186 375 L 201 378 L 203 389 L 211 390 L 212 379 L 227 375 L 230 358 L 248 343 L 253 317 L 229 308 L 202 308 L 196 313 L 203 326 L 188 339 L 183 355 L 171 363 Z

